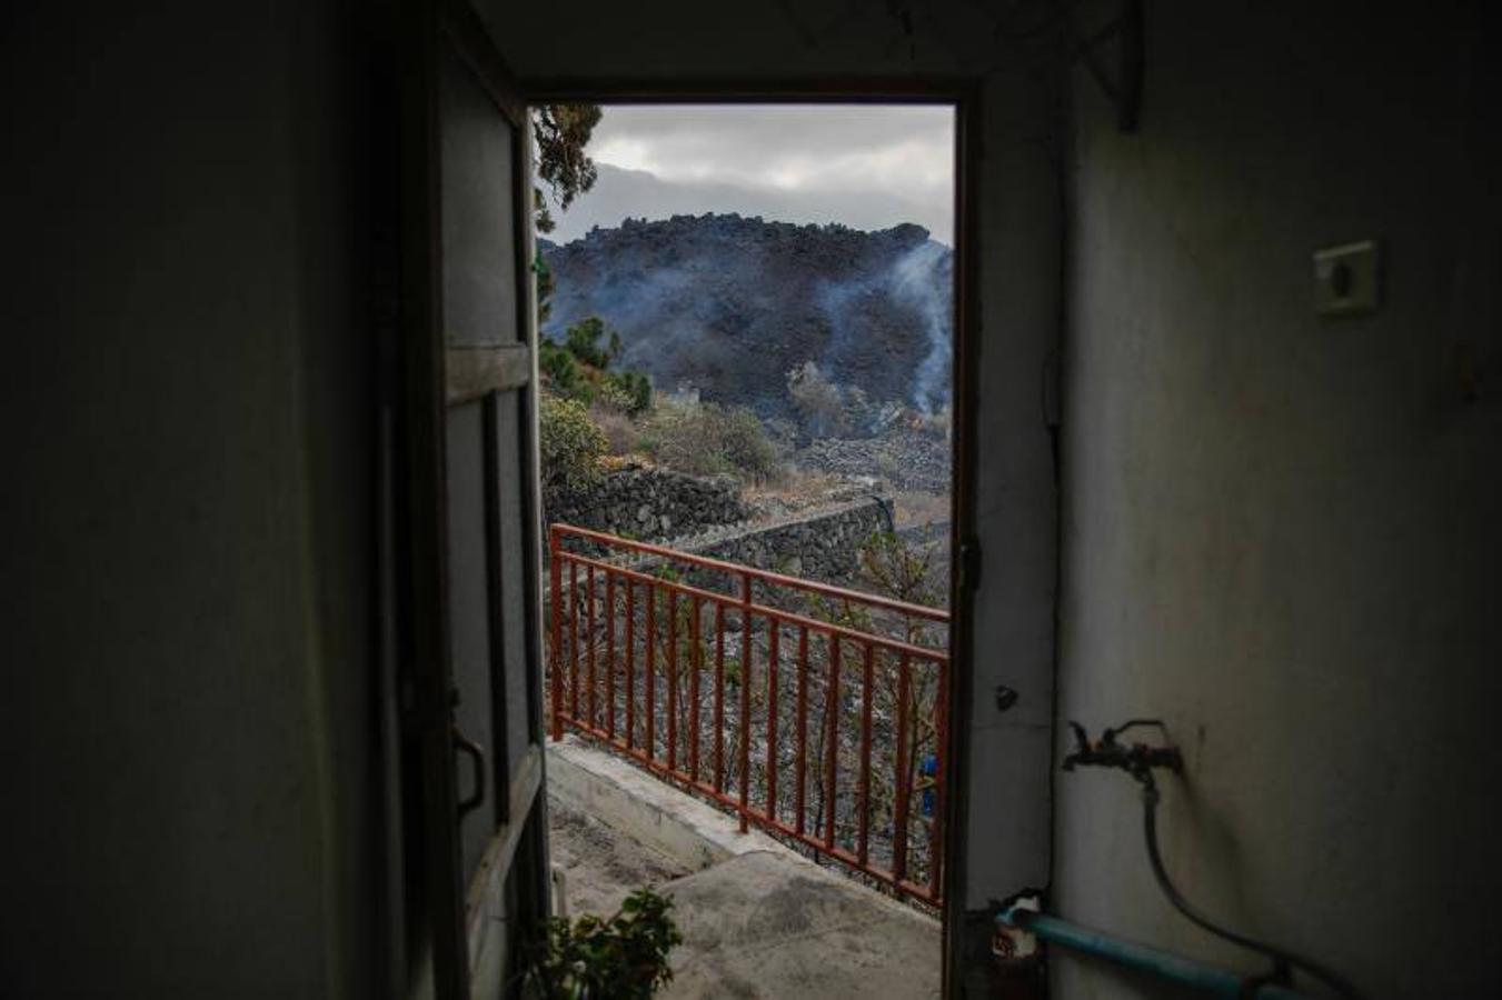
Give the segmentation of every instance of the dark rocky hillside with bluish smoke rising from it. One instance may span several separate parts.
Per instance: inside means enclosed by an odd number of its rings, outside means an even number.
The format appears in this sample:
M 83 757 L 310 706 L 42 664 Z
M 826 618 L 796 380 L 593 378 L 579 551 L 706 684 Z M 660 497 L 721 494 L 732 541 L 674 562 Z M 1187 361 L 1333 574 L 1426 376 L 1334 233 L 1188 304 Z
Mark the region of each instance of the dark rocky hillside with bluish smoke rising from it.
M 949 401 L 952 252 L 918 225 L 877 233 L 739 215 L 628 219 L 557 246 L 545 332 L 598 315 L 623 368 L 662 390 L 787 413 L 787 372 L 814 360 L 871 401 Z

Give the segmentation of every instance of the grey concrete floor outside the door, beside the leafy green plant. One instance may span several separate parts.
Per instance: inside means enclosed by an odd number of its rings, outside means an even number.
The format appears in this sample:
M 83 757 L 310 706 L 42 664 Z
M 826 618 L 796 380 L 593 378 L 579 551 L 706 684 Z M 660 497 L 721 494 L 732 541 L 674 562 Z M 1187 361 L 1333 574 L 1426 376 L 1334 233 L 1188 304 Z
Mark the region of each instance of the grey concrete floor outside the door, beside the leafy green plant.
M 760 850 L 686 872 L 556 800 L 550 815 L 571 916 L 608 916 L 644 884 L 673 898 L 683 943 L 662 997 L 939 995 L 939 922 L 847 878 Z

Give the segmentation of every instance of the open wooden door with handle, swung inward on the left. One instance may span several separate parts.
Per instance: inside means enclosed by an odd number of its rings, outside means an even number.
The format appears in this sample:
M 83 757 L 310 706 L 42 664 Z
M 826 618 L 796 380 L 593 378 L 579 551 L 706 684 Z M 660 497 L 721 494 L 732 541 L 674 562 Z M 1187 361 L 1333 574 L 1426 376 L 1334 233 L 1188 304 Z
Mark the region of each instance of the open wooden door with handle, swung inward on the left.
M 548 910 L 530 132 L 467 6 L 404 44 L 409 992 L 497 997 Z

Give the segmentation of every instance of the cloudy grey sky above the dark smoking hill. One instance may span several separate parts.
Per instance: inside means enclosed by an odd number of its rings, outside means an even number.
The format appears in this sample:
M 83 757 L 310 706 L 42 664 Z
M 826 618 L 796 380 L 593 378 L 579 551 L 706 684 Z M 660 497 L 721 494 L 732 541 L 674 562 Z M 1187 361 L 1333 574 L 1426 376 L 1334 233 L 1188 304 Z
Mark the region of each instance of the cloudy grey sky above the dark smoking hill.
M 626 216 L 739 212 L 954 242 L 954 111 L 883 105 L 607 107 L 595 188 L 557 212 L 568 242 Z

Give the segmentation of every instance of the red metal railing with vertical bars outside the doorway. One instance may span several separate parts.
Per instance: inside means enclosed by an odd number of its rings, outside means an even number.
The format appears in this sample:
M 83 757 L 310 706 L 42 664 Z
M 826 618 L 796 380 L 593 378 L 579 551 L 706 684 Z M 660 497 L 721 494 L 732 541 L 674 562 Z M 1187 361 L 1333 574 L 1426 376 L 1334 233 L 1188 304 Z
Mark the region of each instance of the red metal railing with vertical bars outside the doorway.
M 948 611 L 566 524 L 548 556 L 554 740 L 942 901 Z

